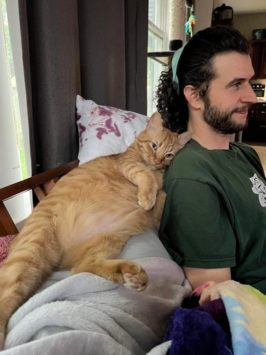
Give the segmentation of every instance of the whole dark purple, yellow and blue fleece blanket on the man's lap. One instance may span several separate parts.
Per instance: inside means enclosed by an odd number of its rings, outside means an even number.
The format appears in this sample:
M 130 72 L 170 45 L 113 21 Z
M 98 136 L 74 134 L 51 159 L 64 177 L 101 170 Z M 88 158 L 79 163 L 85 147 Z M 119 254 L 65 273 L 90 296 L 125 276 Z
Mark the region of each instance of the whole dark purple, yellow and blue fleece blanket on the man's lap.
M 265 295 L 229 280 L 210 283 L 202 300 L 199 307 L 185 308 L 183 302 L 174 310 L 165 342 L 149 355 L 266 354 Z

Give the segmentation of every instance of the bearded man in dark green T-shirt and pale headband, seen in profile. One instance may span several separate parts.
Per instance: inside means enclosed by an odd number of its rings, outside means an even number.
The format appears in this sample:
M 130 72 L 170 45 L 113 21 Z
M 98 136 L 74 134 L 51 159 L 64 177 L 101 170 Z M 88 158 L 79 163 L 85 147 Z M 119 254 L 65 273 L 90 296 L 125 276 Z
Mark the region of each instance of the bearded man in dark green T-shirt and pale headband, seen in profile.
M 237 280 L 266 294 L 266 180 L 257 153 L 230 141 L 257 99 L 249 43 L 232 28 L 196 33 L 162 72 L 157 109 L 193 139 L 165 175 L 160 239 L 196 288 Z

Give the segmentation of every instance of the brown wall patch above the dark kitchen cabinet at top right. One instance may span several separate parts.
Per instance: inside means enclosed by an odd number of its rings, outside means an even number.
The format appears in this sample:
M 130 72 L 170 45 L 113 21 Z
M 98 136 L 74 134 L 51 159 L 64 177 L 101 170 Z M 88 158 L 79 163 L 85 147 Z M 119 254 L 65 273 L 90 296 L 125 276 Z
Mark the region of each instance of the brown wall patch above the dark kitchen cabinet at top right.
M 243 35 L 250 40 L 254 29 L 266 28 L 265 18 L 266 13 L 234 14 L 234 28 L 243 33 Z

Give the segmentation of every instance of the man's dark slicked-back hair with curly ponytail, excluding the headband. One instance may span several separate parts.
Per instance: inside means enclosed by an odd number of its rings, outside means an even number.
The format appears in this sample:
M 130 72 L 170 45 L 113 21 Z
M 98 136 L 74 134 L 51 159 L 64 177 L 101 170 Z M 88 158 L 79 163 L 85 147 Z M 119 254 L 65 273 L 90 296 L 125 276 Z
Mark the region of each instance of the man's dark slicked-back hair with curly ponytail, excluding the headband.
M 167 128 L 177 133 L 187 130 L 188 109 L 184 87 L 192 85 L 204 98 L 209 83 L 216 77 L 215 56 L 231 52 L 249 55 L 250 45 L 240 32 L 226 26 L 205 28 L 187 42 L 177 65 L 180 94 L 177 94 L 177 84 L 172 82 L 171 63 L 168 70 L 160 75 L 156 92 L 157 111 Z

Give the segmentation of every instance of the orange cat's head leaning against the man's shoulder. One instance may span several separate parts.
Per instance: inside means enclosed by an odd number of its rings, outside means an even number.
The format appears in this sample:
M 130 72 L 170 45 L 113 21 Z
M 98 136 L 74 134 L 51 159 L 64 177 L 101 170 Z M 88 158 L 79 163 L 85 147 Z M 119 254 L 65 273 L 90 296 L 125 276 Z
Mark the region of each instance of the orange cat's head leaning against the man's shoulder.
M 138 151 L 145 165 L 160 170 L 170 165 L 177 153 L 192 138 L 192 132 L 177 134 L 162 126 L 161 115 L 155 112 L 148 121 L 145 131 L 136 140 Z

